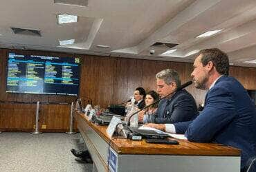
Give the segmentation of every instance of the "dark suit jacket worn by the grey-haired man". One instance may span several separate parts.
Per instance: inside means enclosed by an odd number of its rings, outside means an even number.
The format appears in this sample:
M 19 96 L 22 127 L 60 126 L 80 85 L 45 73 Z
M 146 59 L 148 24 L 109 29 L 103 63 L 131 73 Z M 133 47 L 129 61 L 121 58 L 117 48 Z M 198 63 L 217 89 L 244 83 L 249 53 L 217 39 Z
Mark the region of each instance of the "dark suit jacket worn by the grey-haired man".
M 196 102 L 185 89 L 176 92 L 171 98 L 158 104 L 154 118 L 147 122 L 165 124 L 192 120 L 197 115 Z

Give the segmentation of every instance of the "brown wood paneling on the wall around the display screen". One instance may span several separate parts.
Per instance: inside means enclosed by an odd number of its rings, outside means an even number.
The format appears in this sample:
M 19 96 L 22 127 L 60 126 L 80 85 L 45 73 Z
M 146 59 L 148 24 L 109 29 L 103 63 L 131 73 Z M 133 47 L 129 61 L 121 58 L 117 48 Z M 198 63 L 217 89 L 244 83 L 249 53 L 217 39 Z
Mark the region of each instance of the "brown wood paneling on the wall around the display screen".
M 71 103 L 76 98 L 73 96 L 6 93 L 6 59 L 8 52 L 80 57 L 82 61 L 80 67 L 80 97 L 86 101 L 92 100 L 93 105 L 100 105 L 101 107 L 122 103 L 133 95 L 136 87 L 144 87 L 146 91 L 156 89 L 155 75 L 162 69 L 176 69 L 181 76 L 181 83 L 191 80 L 190 74 L 193 69 L 192 63 L 2 49 L 0 50 L 0 100 L 2 101 Z M 230 75 L 238 78 L 246 89 L 256 89 L 256 68 L 230 67 Z M 197 105 L 203 103 L 205 91 L 195 89 L 193 85 L 190 85 L 187 90 L 194 96 Z M 44 131 L 67 131 L 70 106 L 40 105 L 40 128 L 42 125 L 46 125 Z M 36 104 L 0 103 L 0 131 L 33 131 L 35 110 Z

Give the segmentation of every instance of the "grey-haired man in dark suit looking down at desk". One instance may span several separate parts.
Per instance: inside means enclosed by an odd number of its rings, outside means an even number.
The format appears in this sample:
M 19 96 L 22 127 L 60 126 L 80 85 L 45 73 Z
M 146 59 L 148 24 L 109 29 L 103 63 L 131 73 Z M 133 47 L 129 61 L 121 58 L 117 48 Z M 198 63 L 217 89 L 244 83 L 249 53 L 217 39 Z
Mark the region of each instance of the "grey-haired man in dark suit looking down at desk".
M 157 92 L 161 97 L 167 96 L 181 86 L 181 79 L 174 69 L 164 69 L 156 74 Z M 192 120 L 197 114 L 193 96 L 185 89 L 175 92 L 160 101 L 154 118 L 148 123 L 174 123 Z

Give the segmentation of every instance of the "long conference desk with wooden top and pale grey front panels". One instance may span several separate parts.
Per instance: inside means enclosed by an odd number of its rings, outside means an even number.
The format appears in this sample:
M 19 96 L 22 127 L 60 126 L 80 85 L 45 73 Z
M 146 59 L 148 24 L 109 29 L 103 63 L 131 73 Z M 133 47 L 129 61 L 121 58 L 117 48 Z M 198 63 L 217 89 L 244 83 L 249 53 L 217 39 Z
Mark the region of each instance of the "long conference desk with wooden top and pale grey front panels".
M 239 149 L 178 139 L 179 145 L 168 145 L 109 138 L 107 126 L 95 125 L 77 111 L 75 120 L 91 153 L 94 171 L 240 171 Z

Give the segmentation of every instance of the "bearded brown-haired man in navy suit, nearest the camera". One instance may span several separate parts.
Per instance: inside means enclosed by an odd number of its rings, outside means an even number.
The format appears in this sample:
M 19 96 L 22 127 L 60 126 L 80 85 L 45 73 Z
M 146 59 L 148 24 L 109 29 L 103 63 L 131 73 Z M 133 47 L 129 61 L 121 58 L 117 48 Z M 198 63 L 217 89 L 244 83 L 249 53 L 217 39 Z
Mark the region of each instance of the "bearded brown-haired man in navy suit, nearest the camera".
M 228 56 L 217 48 L 201 50 L 191 76 L 194 85 L 207 89 L 205 107 L 194 120 L 153 126 L 185 133 L 192 142 L 217 142 L 241 149 L 241 171 L 256 155 L 256 113 L 246 89 L 228 76 Z

